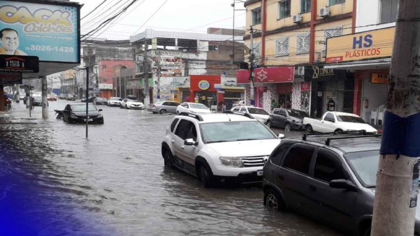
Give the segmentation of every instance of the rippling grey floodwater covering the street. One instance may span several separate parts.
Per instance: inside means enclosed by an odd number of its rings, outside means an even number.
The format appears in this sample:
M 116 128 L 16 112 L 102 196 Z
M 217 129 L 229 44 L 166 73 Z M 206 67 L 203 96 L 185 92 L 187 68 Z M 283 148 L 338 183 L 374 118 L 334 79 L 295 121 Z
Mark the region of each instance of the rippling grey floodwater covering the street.
M 265 208 L 259 186 L 205 189 L 166 170 L 160 147 L 173 115 L 97 106 L 105 123 L 86 139 L 84 124 L 55 118 L 67 103 L 49 102 L 47 120 L 41 107 L 29 118 L 22 102 L 0 113 L 1 224 L 22 235 L 341 236 Z

